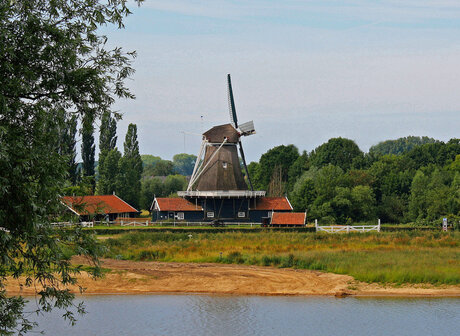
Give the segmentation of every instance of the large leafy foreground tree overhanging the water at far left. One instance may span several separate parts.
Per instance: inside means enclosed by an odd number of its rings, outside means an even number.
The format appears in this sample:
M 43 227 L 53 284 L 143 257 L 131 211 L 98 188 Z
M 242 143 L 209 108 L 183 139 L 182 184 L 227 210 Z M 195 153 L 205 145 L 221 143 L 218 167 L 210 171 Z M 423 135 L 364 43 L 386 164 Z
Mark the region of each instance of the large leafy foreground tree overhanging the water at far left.
M 6 295 L 7 275 L 39 285 L 38 309 L 72 307 L 66 286 L 78 268 L 64 250 L 97 264 L 96 239 L 80 229 L 58 230 L 50 214 L 61 210 L 67 158 L 55 150 L 61 118 L 80 121 L 110 111 L 124 86 L 131 56 L 108 49 L 98 27 L 122 27 L 125 1 L 28 0 L 0 2 L 0 333 L 23 333 L 33 324 L 24 299 Z M 96 267 L 91 271 L 98 274 Z M 83 307 L 77 307 L 79 312 Z M 65 316 L 74 321 L 71 311 Z

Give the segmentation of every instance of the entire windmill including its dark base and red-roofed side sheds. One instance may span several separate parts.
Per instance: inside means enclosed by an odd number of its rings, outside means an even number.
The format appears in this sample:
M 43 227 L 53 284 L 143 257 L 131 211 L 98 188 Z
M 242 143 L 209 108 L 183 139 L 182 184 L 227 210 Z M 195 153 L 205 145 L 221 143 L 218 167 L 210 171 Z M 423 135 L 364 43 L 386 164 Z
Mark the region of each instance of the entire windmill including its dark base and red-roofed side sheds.
M 287 197 L 266 197 L 265 191 L 254 190 L 241 142 L 255 134 L 254 123 L 238 124 L 230 75 L 227 82 L 230 123 L 203 133 L 187 190 L 179 191 L 177 198 L 155 197 L 153 221 L 305 225 L 305 214 L 292 213 Z

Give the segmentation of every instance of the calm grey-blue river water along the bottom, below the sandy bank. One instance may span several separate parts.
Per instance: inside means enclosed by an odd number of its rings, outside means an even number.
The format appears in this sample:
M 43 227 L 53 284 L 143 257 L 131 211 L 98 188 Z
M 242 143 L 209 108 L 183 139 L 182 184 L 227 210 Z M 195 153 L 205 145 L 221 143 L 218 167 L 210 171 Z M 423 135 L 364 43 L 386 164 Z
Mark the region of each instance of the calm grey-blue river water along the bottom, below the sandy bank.
M 84 297 L 70 327 L 53 311 L 45 335 L 458 335 L 455 298 L 118 295 Z M 33 303 L 29 303 L 33 307 Z

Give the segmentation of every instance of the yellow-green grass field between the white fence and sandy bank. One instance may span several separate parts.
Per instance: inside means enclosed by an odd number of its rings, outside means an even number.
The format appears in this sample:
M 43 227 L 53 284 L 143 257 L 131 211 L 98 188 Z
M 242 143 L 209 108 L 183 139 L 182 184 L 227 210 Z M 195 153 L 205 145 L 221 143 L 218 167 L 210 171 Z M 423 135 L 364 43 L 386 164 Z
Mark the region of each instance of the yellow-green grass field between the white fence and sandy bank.
M 135 232 L 104 241 L 106 257 L 292 267 L 380 283 L 460 284 L 460 233 Z

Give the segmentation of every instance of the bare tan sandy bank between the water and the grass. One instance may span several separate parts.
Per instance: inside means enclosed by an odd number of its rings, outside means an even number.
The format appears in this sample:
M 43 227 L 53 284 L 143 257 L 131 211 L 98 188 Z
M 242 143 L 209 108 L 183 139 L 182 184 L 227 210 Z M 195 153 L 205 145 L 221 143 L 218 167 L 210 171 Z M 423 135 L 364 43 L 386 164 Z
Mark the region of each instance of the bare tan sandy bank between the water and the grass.
M 75 263 L 84 264 L 82 258 Z M 142 293 L 219 293 L 254 295 L 384 295 L 384 296 L 460 296 L 460 286 L 382 287 L 360 283 L 348 275 L 309 270 L 273 267 L 133 262 L 103 259 L 102 267 L 111 271 L 92 280 L 83 273 L 79 283 L 86 294 Z M 78 289 L 71 288 L 73 291 Z M 20 290 L 10 280 L 8 293 L 32 294 L 33 289 Z

